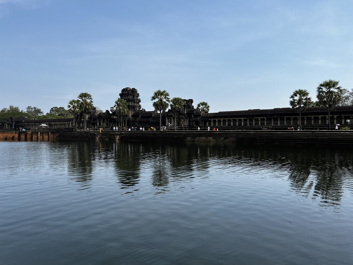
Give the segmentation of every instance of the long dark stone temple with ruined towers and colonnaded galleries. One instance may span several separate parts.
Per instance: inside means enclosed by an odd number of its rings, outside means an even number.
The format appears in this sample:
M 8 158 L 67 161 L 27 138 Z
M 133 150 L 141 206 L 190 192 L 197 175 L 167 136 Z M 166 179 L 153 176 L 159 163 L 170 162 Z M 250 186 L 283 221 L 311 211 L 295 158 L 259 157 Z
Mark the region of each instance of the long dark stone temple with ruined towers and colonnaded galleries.
M 136 88 L 123 88 L 119 94 L 121 99 L 127 101 L 128 111 L 122 117 L 122 126 L 128 127 L 159 127 L 159 113 L 156 110 L 145 111 L 140 105 L 139 93 Z M 193 106 L 192 99 L 183 99 L 184 108 L 177 114 L 177 127 L 179 130 L 195 130 L 200 128 L 219 128 L 220 130 L 239 129 L 287 129 L 299 126 L 299 113 L 293 108 L 274 108 L 267 110 L 253 109 L 241 111 L 221 111 L 204 113 L 197 111 Z M 309 107 L 301 113 L 301 125 L 303 129 L 326 129 L 328 125 L 326 107 Z M 353 106 L 336 106 L 330 111 L 331 126 L 341 124 L 351 125 L 353 119 Z M 88 116 L 88 128 L 120 127 L 120 116 L 116 113 L 106 111 L 95 113 L 92 111 Z M 175 114 L 171 110 L 162 112 L 162 126 L 174 126 Z M 32 129 L 45 123 L 49 128 L 78 128 L 83 127 L 82 114 L 73 118 L 28 120 L 22 117 L 11 117 L 5 124 L 5 129 Z

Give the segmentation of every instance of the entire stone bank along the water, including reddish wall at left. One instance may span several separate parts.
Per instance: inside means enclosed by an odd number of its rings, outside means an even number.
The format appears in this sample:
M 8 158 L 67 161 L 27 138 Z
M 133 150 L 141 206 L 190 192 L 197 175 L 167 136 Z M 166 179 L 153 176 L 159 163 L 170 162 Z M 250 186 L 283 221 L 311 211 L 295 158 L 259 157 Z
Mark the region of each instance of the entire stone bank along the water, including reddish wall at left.
M 193 141 L 273 144 L 353 145 L 353 131 L 71 131 L 0 130 L 0 141 Z

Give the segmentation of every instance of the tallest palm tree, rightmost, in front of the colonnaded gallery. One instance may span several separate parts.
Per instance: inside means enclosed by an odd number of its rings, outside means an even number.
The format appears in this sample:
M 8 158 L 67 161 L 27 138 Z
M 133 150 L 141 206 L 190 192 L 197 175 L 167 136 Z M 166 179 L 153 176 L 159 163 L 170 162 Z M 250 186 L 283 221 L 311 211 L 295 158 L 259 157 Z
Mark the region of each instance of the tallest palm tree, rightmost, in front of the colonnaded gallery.
M 338 84 L 340 81 L 336 80 L 325 80 L 320 83 L 316 88 L 316 97 L 319 100 L 320 104 L 327 107 L 328 111 L 328 130 L 331 130 L 330 126 L 330 110 L 337 104 L 339 104 L 342 97 L 342 87 Z

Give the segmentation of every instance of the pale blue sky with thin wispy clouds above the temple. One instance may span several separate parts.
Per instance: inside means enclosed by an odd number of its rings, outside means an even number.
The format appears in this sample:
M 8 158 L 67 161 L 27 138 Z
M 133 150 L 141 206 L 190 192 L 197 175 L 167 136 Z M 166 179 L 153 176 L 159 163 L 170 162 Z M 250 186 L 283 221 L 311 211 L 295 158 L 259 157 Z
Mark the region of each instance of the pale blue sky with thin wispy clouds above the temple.
M 166 89 L 210 112 L 315 100 L 326 79 L 353 88 L 353 1 L 0 0 L 0 108 L 103 111 L 124 87 L 141 105 Z

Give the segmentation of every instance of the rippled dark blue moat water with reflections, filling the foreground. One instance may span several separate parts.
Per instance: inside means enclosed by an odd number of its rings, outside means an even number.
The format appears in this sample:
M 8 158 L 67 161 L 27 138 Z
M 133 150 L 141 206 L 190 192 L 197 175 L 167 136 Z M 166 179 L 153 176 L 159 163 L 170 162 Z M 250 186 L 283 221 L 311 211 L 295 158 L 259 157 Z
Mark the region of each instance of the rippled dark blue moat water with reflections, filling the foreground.
M 350 149 L 0 142 L 0 264 L 353 264 Z

